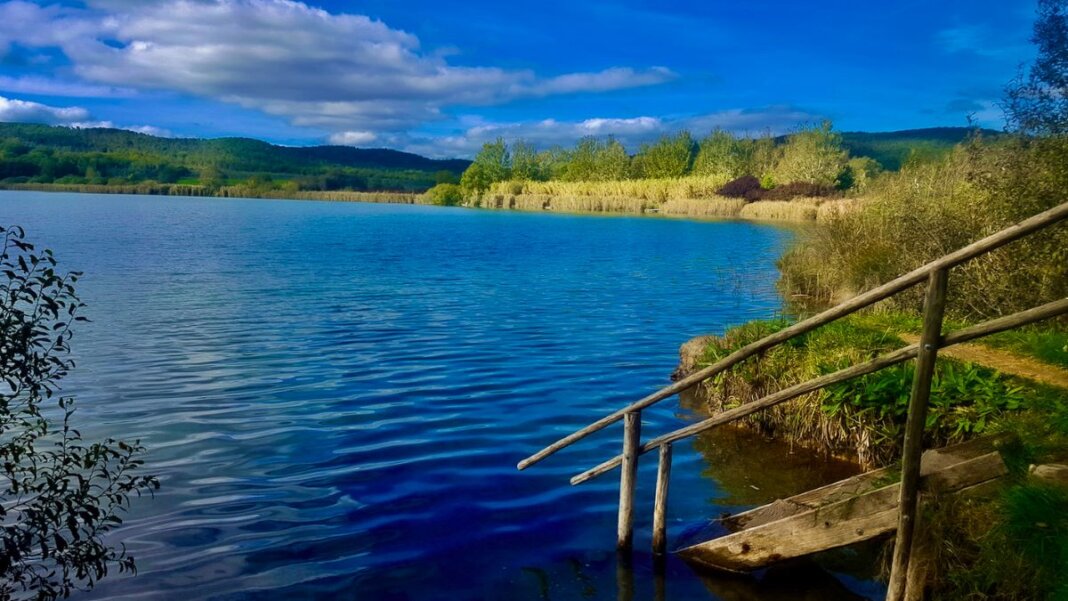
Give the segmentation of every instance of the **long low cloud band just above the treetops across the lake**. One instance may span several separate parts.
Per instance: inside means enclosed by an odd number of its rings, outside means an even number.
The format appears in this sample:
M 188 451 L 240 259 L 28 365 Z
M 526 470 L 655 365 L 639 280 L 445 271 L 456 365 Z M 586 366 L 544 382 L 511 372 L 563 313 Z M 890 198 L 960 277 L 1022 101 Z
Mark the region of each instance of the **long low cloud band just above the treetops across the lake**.
M 725 129 L 736 135 L 786 133 L 804 123 L 820 121 L 820 115 L 792 107 L 763 109 L 732 109 L 700 115 L 671 118 L 638 116 L 629 118 L 586 118 L 581 121 L 475 123 L 455 136 L 438 138 L 393 137 L 391 143 L 409 152 L 434 157 L 473 156 L 485 142 L 503 138 L 507 141 L 524 140 L 539 148 L 554 145 L 570 146 L 580 138 L 594 136 L 613 137 L 630 151 L 644 142 L 682 129 L 694 136 L 704 136 L 713 129 Z

